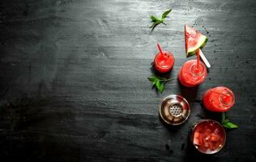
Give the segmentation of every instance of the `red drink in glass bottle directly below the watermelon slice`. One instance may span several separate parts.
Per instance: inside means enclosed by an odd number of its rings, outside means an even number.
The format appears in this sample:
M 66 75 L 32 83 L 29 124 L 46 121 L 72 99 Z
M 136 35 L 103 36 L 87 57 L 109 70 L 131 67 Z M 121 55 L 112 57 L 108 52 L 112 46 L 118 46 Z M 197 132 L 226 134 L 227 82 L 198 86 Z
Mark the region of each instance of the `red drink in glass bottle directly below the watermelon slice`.
M 197 60 L 185 62 L 178 74 L 181 84 L 186 87 L 194 87 L 202 83 L 207 77 L 207 68 L 203 62 L 197 67 Z

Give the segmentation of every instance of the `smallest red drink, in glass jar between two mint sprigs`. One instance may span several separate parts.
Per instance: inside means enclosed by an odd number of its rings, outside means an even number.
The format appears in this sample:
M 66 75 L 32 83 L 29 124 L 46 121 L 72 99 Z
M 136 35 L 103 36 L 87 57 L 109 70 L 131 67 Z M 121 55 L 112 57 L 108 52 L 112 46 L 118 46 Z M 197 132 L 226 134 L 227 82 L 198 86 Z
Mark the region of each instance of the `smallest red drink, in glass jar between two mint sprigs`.
M 173 54 L 169 51 L 164 51 L 164 54 L 157 53 L 155 58 L 156 70 L 160 73 L 166 73 L 169 70 L 172 70 L 174 65 Z

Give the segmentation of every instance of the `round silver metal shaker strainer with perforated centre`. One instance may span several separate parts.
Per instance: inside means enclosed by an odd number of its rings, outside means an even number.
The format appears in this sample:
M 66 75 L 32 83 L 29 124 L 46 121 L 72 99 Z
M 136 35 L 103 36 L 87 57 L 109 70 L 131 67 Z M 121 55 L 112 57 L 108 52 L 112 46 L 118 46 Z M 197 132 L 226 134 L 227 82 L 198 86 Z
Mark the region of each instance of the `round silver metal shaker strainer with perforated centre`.
M 164 122 L 177 126 L 185 122 L 190 116 L 190 104 L 178 95 L 171 95 L 164 98 L 160 104 L 160 117 Z

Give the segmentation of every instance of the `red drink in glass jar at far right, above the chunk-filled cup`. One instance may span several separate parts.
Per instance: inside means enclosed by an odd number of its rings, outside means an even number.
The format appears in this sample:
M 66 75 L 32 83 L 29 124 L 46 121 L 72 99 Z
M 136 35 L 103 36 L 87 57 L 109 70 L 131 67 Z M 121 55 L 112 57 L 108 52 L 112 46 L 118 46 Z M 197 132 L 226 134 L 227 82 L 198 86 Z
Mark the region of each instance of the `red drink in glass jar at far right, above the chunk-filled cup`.
M 214 112 L 226 112 L 235 103 L 235 96 L 228 87 L 214 87 L 203 95 L 204 106 Z

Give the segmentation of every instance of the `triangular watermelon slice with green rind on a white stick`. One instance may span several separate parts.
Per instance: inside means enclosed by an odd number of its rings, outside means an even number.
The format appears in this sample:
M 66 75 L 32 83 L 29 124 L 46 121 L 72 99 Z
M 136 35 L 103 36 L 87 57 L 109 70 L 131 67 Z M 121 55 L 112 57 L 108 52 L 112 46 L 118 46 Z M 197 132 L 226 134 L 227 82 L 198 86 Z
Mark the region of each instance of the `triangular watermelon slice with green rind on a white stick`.
M 207 43 L 207 36 L 194 30 L 190 26 L 185 25 L 185 45 L 186 56 L 190 57 L 196 53 L 197 49 L 201 49 Z

